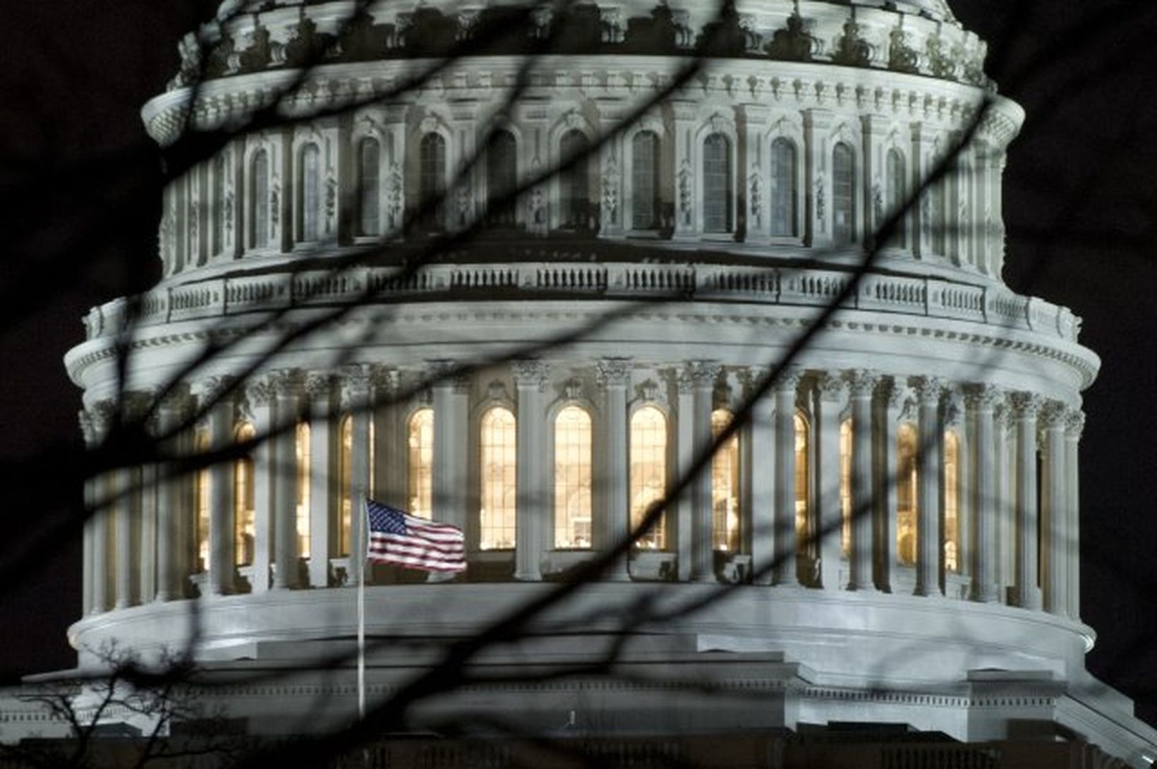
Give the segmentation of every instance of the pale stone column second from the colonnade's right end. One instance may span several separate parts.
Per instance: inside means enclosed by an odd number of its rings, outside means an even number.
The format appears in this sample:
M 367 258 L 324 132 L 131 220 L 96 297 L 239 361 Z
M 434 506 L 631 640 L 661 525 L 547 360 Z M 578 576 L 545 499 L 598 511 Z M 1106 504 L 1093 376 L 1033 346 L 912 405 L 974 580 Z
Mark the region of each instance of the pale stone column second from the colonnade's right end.
M 1066 417 L 1063 404 L 1048 401 L 1040 412 L 1045 437 L 1040 479 L 1040 574 L 1045 611 L 1068 612 L 1068 479 L 1064 467 Z

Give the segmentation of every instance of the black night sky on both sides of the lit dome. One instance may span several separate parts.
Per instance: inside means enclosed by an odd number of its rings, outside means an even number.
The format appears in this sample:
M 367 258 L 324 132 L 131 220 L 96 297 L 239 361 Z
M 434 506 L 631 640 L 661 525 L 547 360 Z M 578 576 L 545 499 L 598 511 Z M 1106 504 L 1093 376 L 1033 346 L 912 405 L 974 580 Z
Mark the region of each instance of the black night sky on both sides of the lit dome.
M 1082 608 L 1100 636 L 1088 663 L 1157 723 L 1149 568 L 1157 552 L 1157 46 L 1149 42 L 1157 3 L 952 5 L 968 29 L 1007 39 L 1010 56 L 990 58 L 989 73 L 1029 113 L 1005 176 L 1005 279 L 1082 316 L 1082 341 L 1103 358 L 1085 393 L 1081 458 Z M 16 236 L 3 241 L 0 301 L 36 298 L 0 325 L 0 468 L 9 485 L 53 483 L 51 472 L 13 467 L 80 442 L 80 392 L 61 357 L 83 338 L 81 316 L 156 279 L 160 176 L 139 110 L 176 71 L 180 34 L 213 6 L 38 0 L 6 9 L 0 221 Z M 47 254 L 64 259 L 45 267 Z M 29 503 L 0 510 L 9 523 L 0 560 L 22 547 L 29 524 L 54 512 Z M 79 541 L 61 544 L 0 597 L 0 680 L 74 661 L 65 628 L 80 613 L 79 553 Z

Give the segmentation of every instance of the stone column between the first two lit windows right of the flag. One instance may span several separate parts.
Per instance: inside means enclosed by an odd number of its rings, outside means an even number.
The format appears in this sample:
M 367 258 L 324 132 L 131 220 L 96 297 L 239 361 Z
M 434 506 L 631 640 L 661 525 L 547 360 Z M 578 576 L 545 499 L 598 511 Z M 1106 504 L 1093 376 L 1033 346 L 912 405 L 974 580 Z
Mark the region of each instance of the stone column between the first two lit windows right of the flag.
M 515 361 L 510 364 L 518 389 L 518 494 L 515 532 L 514 578 L 538 582 L 543 578 L 543 523 L 550 515 L 546 494 L 546 413 L 544 393 L 550 369 L 541 361 Z M 435 420 L 437 415 L 435 414 Z

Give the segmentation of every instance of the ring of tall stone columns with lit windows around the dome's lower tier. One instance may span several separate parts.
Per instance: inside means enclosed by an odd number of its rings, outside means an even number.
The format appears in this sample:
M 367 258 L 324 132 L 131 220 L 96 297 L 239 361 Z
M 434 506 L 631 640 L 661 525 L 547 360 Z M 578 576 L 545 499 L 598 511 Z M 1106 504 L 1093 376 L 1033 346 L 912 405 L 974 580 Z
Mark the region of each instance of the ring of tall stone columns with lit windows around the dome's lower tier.
M 712 361 L 603 358 L 521 361 L 462 376 L 437 361 L 421 370 L 214 377 L 155 404 L 134 394 L 120 413 L 150 414 L 164 461 L 88 482 L 96 512 L 84 527 L 84 611 L 355 585 L 363 575 L 349 557 L 361 537 L 354 501 L 367 494 L 398 506 L 428 494 L 420 506 L 466 532 L 467 579 L 489 564 L 506 578 L 539 581 L 638 524 L 634 414 L 650 407 L 665 420 L 666 458 L 651 461 L 670 490 L 717 435 L 714 416 L 758 395 L 738 441 L 724 446 L 738 483 L 721 480 L 722 465 L 702 464 L 665 506 L 662 535 L 606 578 L 948 594 L 1078 618 L 1078 409 L 986 383 L 862 369 L 791 369 L 757 393 L 766 374 Z M 563 513 L 551 502 L 559 463 L 573 461 L 554 445 L 554 421 L 568 406 L 590 416 L 575 497 L 590 539 L 580 545 L 560 533 Z M 516 420 L 507 475 L 482 468 L 489 438 L 480 421 L 489 408 Z M 428 436 L 411 427 L 419 409 L 433 414 Z M 115 413 L 109 404 L 81 413 L 91 446 Z M 237 449 L 241 423 L 268 439 Z M 295 429 L 302 423 L 308 430 Z M 899 457 L 901 428 L 918 436 L 911 469 Z M 205 452 L 222 459 L 178 469 Z M 510 479 L 513 488 L 485 486 Z M 485 495 L 514 500 L 513 544 L 488 539 L 482 518 L 499 513 L 485 511 Z M 911 559 L 900 550 L 901 496 L 914 500 Z M 251 516 L 244 535 L 238 516 Z M 648 560 L 658 565 L 648 571 Z

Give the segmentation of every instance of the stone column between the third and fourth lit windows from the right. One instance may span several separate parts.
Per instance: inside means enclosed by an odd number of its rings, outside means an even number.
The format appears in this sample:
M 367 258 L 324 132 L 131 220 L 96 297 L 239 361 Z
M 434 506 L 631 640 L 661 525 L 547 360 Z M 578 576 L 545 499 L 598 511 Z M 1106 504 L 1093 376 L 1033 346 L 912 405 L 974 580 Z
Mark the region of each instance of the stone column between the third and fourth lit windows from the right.
M 840 584 L 840 406 L 843 380 L 835 374 L 823 372 L 816 380 L 816 441 L 818 457 L 816 489 L 819 522 L 819 581 L 825 590 Z

